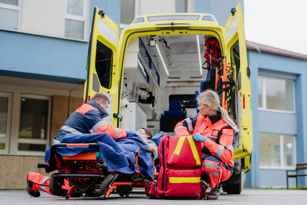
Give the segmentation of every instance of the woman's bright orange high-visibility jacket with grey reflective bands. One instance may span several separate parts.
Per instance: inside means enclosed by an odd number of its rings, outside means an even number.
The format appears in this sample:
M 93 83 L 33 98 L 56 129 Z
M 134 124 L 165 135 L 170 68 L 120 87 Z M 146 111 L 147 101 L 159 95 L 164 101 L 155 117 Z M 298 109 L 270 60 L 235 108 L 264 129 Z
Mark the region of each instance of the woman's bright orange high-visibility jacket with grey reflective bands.
M 198 113 L 178 122 L 174 132 L 176 136 L 200 133 L 207 137 L 202 153 L 219 158 L 233 167 L 233 150 L 235 146 L 234 130 L 224 121 L 221 113 L 214 116 L 202 116 Z

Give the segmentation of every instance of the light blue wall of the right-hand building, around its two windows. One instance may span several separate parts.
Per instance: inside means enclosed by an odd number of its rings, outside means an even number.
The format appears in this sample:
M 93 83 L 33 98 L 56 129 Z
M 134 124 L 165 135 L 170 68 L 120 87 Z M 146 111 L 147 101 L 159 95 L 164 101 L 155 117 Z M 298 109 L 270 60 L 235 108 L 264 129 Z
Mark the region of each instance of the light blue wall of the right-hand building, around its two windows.
M 270 133 L 283 132 L 296 134 L 296 156 L 297 163 L 307 161 L 307 108 L 303 105 L 307 105 L 307 81 L 302 79 L 307 78 L 307 61 L 278 56 L 268 53 L 258 53 L 255 51 L 248 51 L 249 66 L 251 66 L 251 109 L 253 112 L 253 154 L 251 162 L 251 171 L 246 174 L 246 186 L 247 187 L 260 187 L 260 186 L 274 186 L 275 179 L 270 177 L 280 178 L 278 185 L 286 186 L 286 174 L 276 170 L 260 170 L 259 169 L 259 132 Z M 261 74 L 264 70 L 268 73 L 275 72 L 276 74 L 288 74 L 290 76 L 296 75 L 295 82 L 295 107 L 296 107 L 296 120 L 294 114 L 273 113 L 258 111 L 258 74 L 259 70 Z M 270 74 L 269 74 L 270 75 Z M 284 117 L 290 117 L 291 120 L 284 119 Z M 280 120 L 284 119 L 284 120 Z M 296 122 L 296 125 L 294 123 Z M 301 171 L 300 173 L 303 173 Z M 261 173 L 261 174 L 260 174 Z M 264 183 L 262 177 L 267 175 L 267 179 Z M 300 177 L 299 185 L 306 186 L 307 178 Z

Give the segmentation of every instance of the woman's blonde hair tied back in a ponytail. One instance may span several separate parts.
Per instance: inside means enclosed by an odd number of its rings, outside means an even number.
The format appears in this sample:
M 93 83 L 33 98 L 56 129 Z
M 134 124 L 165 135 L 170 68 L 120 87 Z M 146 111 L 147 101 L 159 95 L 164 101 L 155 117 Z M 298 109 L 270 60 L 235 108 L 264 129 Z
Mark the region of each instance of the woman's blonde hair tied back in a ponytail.
M 209 105 L 212 110 L 217 112 L 220 111 L 224 121 L 234 130 L 235 133 L 240 131 L 234 121 L 229 117 L 227 110 L 220 107 L 220 96 L 218 96 L 214 91 L 205 90 L 199 94 L 197 100 L 202 104 Z

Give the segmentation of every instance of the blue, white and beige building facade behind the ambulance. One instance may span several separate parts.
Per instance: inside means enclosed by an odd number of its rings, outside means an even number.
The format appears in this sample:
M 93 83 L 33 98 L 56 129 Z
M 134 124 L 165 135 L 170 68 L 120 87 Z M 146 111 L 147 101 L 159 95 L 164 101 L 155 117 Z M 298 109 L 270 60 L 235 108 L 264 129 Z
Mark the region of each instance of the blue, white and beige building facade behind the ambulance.
M 94 6 L 127 28 L 137 15 L 211 13 L 221 26 L 238 1 L 0 0 L 0 189 L 25 189 L 45 150 L 82 105 Z M 163 5 L 163 6 L 161 6 Z M 243 2 L 241 2 L 242 8 Z M 307 160 L 307 56 L 247 43 L 253 154 L 247 187 L 284 187 Z M 16 165 L 18 165 L 16 167 Z M 295 186 L 290 179 L 290 186 Z M 300 186 L 306 186 L 301 177 Z

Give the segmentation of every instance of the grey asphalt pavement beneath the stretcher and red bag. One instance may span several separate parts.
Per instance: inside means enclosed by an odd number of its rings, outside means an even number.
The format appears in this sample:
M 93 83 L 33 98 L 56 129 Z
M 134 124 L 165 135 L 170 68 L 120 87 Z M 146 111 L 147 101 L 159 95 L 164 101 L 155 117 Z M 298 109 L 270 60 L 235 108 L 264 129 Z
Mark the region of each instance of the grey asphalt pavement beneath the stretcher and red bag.
M 23 190 L 0 190 L 0 204 L 124 204 L 124 205 L 186 205 L 187 203 L 196 204 L 307 204 L 307 190 L 265 190 L 265 189 L 243 189 L 239 195 L 228 195 L 225 192 L 221 193 L 218 200 L 161 200 L 161 199 L 149 199 L 142 190 L 134 190 L 130 193 L 129 197 L 120 197 L 118 194 L 110 195 L 107 200 L 103 200 L 101 197 L 80 197 L 70 198 L 66 200 L 64 197 L 51 196 L 45 192 L 40 192 L 41 195 L 38 198 L 34 198 L 28 195 L 27 191 Z

